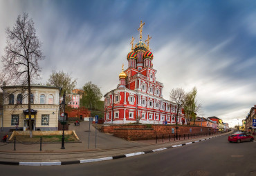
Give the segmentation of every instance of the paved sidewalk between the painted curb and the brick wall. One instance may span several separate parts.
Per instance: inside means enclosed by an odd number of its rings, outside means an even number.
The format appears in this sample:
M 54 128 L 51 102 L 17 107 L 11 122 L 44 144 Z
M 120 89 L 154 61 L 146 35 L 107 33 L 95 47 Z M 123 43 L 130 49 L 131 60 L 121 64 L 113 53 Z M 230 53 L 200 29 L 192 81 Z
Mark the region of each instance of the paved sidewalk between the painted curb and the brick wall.
M 39 144 L 17 144 L 14 151 L 14 144 L 1 146 L 0 143 L 0 164 L 18 164 L 18 165 L 61 165 L 78 164 L 83 162 L 96 162 L 100 160 L 117 159 L 120 157 L 129 157 L 152 153 L 158 150 L 165 150 L 176 146 L 192 144 L 192 142 L 203 141 L 212 137 L 226 135 L 222 133 L 215 136 L 205 136 L 200 138 L 190 138 L 174 141 L 165 139 L 162 142 L 158 140 L 148 141 L 126 141 L 112 135 L 97 132 L 97 148 L 95 149 L 95 128 L 90 126 L 90 146 L 88 149 L 89 122 L 82 122 L 80 126 L 70 126 L 70 130 L 75 130 L 80 137 L 81 143 L 66 143 L 64 150 L 60 149 L 61 144 L 42 144 L 42 151 L 39 151 Z M 24 163 L 25 162 L 25 163 Z

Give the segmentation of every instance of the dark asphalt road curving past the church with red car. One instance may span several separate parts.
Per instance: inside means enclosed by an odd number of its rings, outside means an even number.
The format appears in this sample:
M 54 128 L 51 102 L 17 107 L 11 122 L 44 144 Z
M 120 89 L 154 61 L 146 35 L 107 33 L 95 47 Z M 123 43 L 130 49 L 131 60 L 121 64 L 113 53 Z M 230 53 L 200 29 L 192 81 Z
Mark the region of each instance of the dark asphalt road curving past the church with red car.
M 228 135 L 157 153 L 66 166 L 0 165 L 1 175 L 256 176 L 256 142 L 230 144 Z

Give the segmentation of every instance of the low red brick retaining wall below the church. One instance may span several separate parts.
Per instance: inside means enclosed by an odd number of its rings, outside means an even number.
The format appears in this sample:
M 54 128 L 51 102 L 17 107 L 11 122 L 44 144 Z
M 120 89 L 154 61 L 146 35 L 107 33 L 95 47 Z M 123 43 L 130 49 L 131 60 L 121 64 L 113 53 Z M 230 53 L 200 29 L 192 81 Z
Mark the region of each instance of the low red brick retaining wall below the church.
M 145 125 L 113 125 L 113 126 L 102 126 L 101 130 L 104 133 L 112 133 L 116 137 L 121 137 L 127 140 L 143 140 L 143 139 L 156 139 L 165 135 L 176 134 L 176 126 L 171 125 L 152 125 L 152 128 L 147 128 Z M 174 128 L 175 133 L 172 133 Z M 190 128 L 192 132 L 190 133 Z M 202 131 L 201 131 L 202 128 Z M 211 128 L 211 132 L 214 130 Z M 187 135 L 195 133 L 209 133 L 208 127 L 201 126 L 179 126 L 178 135 Z

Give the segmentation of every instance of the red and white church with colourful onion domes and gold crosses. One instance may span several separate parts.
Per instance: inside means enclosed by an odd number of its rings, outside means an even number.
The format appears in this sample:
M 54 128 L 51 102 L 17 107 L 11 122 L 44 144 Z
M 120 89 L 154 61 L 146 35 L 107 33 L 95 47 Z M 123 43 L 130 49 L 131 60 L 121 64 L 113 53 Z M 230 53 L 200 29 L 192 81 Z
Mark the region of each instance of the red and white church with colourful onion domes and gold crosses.
M 163 99 L 163 84 L 156 81 L 153 54 L 149 49 L 149 35 L 145 43 L 140 22 L 140 40 L 127 55 L 129 67 L 119 75 L 120 84 L 104 95 L 104 124 L 176 124 L 177 105 Z M 178 124 L 187 124 L 183 108 L 179 110 Z

